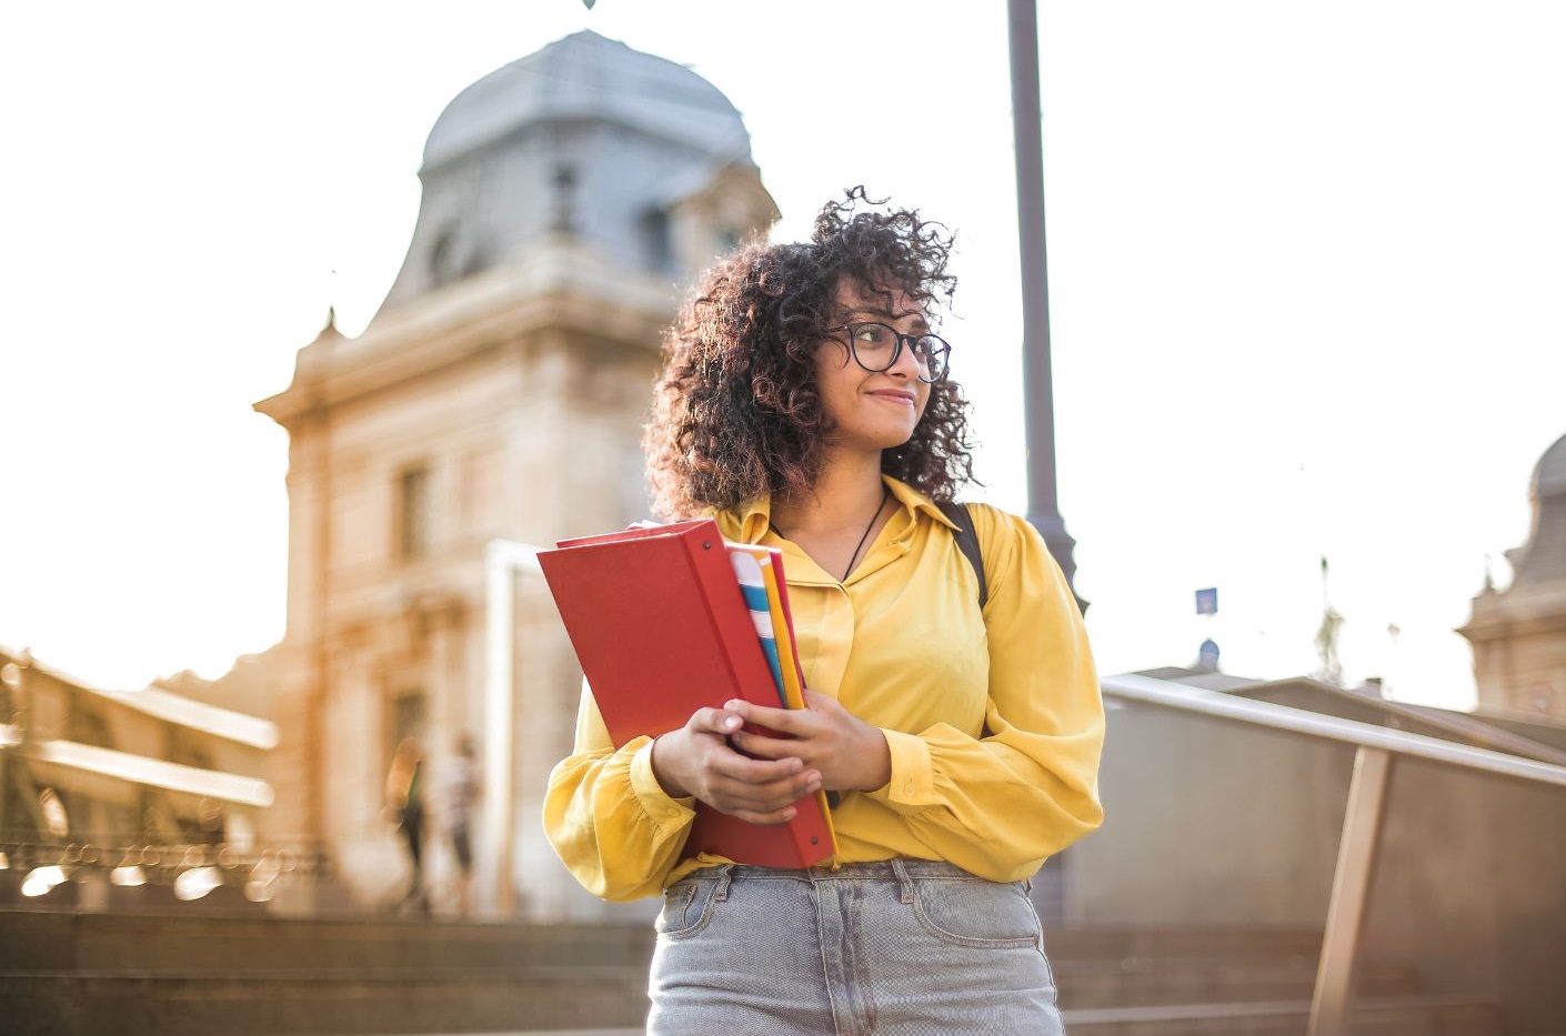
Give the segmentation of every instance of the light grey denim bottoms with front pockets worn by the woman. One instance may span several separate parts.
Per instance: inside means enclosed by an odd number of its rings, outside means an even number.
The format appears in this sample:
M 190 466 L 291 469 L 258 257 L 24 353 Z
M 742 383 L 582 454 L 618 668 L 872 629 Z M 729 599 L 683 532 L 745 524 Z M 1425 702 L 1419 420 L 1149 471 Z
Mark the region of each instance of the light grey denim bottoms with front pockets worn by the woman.
M 1059 1036 L 1024 883 L 943 862 L 725 865 L 669 886 L 650 1036 Z

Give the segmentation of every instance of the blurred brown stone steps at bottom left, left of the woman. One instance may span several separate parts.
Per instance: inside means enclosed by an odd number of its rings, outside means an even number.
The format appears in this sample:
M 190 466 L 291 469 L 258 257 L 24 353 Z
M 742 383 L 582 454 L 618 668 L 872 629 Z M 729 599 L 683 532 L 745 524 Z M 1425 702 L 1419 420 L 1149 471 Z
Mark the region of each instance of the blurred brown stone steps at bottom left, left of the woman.
M 628 1028 L 650 951 L 642 926 L 0 909 L 0 1031 Z

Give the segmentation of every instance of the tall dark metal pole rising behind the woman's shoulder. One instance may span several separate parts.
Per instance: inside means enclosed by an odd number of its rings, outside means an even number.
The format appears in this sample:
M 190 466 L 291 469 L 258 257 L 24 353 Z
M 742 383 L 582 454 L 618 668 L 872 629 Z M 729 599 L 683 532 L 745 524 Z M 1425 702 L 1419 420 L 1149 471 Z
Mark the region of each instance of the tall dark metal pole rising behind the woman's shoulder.
M 1049 264 L 1045 255 L 1043 111 L 1038 99 L 1035 0 L 1009 0 L 1012 124 L 1016 135 L 1016 224 L 1023 255 L 1023 385 L 1027 429 L 1027 520 L 1074 587 L 1076 540 L 1055 490 L 1055 404 L 1049 365 Z M 1074 592 L 1074 590 L 1073 590 Z M 1077 598 L 1085 609 L 1087 603 Z

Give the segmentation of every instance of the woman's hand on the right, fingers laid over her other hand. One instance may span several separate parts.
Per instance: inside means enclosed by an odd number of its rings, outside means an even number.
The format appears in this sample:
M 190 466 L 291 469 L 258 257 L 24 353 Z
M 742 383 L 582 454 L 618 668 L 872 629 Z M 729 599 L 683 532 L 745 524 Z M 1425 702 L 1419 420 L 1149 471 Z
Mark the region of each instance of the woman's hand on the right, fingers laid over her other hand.
M 799 759 L 821 773 L 821 787 L 833 792 L 874 792 L 891 779 L 891 750 L 880 728 L 844 709 L 835 698 L 805 692 L 805 709 L 769 709 L 728 701 L 723 712 L 792 739 L 733 734 L 734 746 L 760 759 Z

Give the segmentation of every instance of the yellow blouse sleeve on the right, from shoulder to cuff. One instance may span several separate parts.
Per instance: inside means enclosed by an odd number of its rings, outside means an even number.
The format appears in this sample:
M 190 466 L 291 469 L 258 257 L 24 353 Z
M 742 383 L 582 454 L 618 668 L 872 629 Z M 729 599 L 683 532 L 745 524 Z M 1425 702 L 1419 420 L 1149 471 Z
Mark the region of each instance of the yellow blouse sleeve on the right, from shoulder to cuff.
M 886 731 L 893 778 L 871 795 L 941 859 L 1016 881 L 1102 823 L 1104 704 L 1076 596 L 1043 537 L 1015 515 L 971 510 L 990 579 L 985 732 Z

